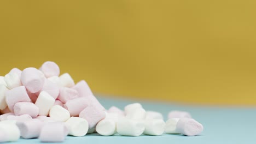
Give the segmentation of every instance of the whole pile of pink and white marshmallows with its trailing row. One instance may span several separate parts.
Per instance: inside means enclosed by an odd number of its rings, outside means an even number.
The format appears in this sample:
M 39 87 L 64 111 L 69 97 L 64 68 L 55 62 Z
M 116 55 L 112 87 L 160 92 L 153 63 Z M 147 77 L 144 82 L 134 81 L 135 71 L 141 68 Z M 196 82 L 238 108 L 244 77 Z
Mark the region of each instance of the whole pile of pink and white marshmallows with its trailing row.
M 77 84 L 68 74 L 60 75 L 54 62 L 39 69 L 11 69 L 0 76 L 0 142 L 39 138 L 62 142 L 67 135 L 98 133 L 110 136 L 183 134 L 195 136 L 202 124 L 188 112 L 171 111 L 165 123 L 161 113 L 145 111 L 141 104 L 105 110 L 82 80 Z

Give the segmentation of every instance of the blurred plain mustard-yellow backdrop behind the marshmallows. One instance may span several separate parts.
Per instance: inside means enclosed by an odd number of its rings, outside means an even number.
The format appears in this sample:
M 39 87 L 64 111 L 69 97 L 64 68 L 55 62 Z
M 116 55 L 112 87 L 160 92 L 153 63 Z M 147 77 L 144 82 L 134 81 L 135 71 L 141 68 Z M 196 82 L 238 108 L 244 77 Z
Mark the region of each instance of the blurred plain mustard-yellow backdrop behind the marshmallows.
M 256 1 L 1 1 L 0 75 L 55 61 L 92 91 L 256 105 Z

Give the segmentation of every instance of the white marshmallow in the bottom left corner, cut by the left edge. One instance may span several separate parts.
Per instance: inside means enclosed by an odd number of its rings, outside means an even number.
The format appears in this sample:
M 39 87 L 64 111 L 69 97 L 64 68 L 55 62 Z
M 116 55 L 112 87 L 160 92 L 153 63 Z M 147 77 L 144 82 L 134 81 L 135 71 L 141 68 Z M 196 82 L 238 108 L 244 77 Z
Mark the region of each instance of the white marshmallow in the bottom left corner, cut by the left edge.
M 14 123 L 0 122 L 0 131 L 5 133 L 4 141 L 18 141 L 20 139 L 20 130 Z

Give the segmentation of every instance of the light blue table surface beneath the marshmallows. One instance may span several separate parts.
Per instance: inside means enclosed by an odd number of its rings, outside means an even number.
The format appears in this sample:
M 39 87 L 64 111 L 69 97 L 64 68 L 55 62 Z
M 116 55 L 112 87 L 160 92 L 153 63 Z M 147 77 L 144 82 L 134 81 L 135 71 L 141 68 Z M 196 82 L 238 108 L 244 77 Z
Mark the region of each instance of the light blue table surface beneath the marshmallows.
M 67 136 L 63 143 L 256 143 L 256 107 L 213 107 L 188 106 L 166 103 L 153 103 L 135 100 L 121 100 L 97 97 L 106 109 L 115 105 L 123 108 L 125 105 L 139 102 L 146 110 L 159 111 L 167 118 L 171 110 L 184 110 L 191 113 L 194 119 L 203 124 L 204 130 L 200 136 L 162 135 L 162 136 L 100 136 L 90 134 L 83 137 Z M 20 139 L 13 143 L 39 143 L 38 139 Z

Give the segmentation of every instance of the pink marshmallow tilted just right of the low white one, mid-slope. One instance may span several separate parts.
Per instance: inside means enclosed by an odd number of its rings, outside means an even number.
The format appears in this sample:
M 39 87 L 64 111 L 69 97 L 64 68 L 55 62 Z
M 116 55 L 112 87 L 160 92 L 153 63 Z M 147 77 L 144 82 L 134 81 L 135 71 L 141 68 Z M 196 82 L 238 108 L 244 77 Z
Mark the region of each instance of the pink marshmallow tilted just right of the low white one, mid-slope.
M 65 104 L 71 116 L 78 116 L 88 105 L 88 100 L 85 97 L 68 100 Z

